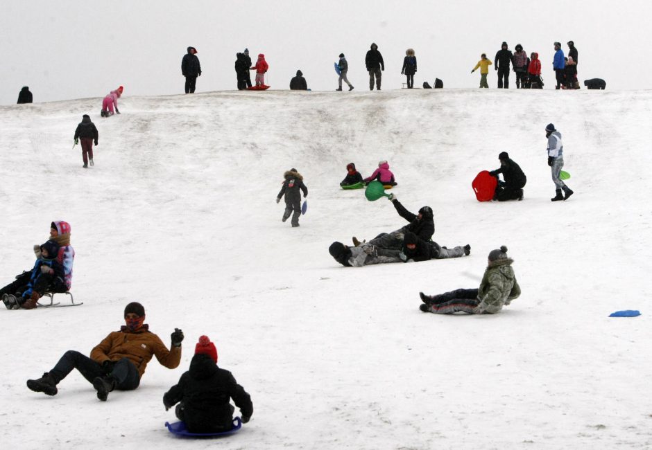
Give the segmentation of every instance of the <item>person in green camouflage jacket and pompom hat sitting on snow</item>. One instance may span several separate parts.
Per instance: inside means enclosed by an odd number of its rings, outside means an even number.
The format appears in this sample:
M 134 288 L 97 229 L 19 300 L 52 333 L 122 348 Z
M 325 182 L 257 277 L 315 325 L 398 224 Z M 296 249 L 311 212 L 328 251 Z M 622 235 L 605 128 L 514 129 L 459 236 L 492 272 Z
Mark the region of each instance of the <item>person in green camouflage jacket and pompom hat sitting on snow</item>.
M 521 295 L 521 288 L 516 282 L 512 268 L 514 260 L 507 258 L 506 246 L 490 251 L 488 259 L 487 269 L 478 289 L 456 289 L 436 296 L 427 296 L 420 292 L 423 304 L 419 309 L 435 314 L 500 312 L 503 306 L 509 305 Z

